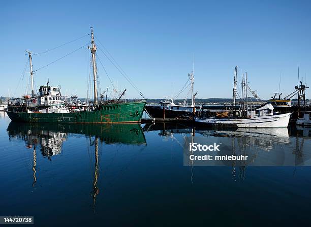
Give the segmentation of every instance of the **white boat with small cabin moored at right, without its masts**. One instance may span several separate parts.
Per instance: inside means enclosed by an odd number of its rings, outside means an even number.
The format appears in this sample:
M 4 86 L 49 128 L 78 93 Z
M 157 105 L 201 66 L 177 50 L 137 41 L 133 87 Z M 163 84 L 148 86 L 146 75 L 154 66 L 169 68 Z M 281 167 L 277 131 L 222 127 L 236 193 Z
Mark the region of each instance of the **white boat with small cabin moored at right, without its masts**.
M 195 119 L 196 122 L 220 127 L 269 128 L 287 127 L 291 113 L 273 114 L 271 104 L 266 104 L 255 111 L 248 111 L 248 118 L 206 118 Z

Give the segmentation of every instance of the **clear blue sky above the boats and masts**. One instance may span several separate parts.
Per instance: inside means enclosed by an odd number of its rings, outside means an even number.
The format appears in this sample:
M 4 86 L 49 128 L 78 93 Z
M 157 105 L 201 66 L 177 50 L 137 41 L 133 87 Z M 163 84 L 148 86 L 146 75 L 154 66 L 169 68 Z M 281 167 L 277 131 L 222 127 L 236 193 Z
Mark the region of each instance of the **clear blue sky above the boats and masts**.
M 291 93 L 300 80 L 311 81 L 311 4 L 309 1 L 4 1 L 0 7 L 1 89 L 12 96 L 27 56 L 89 33 L 105 45 L 146 98 L 176 94 L 188 79 L 195 53 L 197 98 L 230 98 L 234 67 L 247 71 L 262 99 Z M 89 41 L 33 57 L 34 70 Z M 134 88 L 98 55 L 127 98 Z M 98 64 L 102 90 L 112 86 Z M 81 50 L 36 72 L 37 88 L 49 78 L 63 93 L 85 97 L 89 50 Z M 29 70 L 27 69 L 27 72 Z M 25 75 L 15 96 L 24 93 Z M 307 98 L 311 98 L 307 91 Z M 182 95 L 180 96 L 182 98 Z

